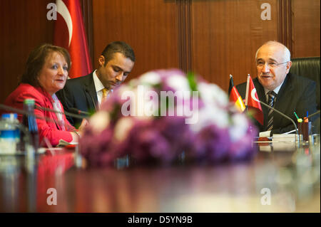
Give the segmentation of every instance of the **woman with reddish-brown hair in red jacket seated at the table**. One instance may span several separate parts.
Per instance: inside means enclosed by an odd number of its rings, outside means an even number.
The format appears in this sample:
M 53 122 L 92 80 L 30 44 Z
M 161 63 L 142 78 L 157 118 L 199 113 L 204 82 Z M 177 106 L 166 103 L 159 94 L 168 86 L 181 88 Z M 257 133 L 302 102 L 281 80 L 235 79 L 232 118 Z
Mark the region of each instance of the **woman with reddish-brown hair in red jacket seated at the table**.
M 35 48 L 26 62 L 21 83 L 6 98 L 5 104 L 22 110 L 25 99 L 34 99 L 36 106 L 63 112 L 63 106 L 55 93 L 65 85 L 70 67 L 70 56 L 66 49 L 50 44 Z M 37 108 L 34 113 L 40 117 L 36 119 L 39 144 L 44 144 L 44 137 L 49 139 L 52 146 L 56 146 L 60 139 L 78 142 L 78 130 L 69 124 L 65 115 Z M 22 120 L 21 115 L 19 120 Z M 86 123 L 84 120 L 80 130 Z

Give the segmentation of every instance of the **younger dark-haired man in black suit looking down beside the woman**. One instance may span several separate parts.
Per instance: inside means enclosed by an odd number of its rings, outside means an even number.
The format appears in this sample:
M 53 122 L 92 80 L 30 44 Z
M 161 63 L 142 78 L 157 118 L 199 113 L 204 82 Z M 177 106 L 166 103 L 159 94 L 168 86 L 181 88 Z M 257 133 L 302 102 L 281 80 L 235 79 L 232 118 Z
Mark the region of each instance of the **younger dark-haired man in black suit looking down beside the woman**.
M 109 43 L 98 58 L 99 66 L 93 73 L 67 80 L 65 87 L 56 95 L 66 112 L 73 108 L 84 112 L 95 112 L 106 95 L 125 80 L 135 63 L 135 54 L 127 43 Z M 71 125 L 78 127 L 81 120 L 67 117 Z

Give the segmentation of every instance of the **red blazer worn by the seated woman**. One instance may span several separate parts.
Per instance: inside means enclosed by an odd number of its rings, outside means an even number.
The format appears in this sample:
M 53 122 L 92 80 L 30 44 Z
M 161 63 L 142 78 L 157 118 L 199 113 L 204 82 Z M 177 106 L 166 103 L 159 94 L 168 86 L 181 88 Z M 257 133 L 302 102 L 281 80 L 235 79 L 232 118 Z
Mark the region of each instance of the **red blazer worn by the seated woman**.
M 24 109 L 24 100 L 26 98 L 32 98 L 35 101 L 35 105 L 40 107 L 49 108 L 54 110 L 52 102 L 54 102 L 53 98 L 49 93 L 47 93 L 42 88 L 35 88 L 32 85 L 21 83 L 16 90 L 14 90 L 9 97 L 6 98 L 5 104 L 11 107 L 15 107 L 17 109 Z M 63 106 L 61 105 L 61 110 L 63 110 Z M 47 117 L 58 122 L 58 117 L 54 112 L 49 112 L 45 110 L 34 110 L 35 115 L 39 117 Z M 22 122 L 22 115 L 18 115 L 18 119 Z M 49 139 L 52 146 L 56 146 L 59 143 L 59 139 L 63 139 L 66 142 L 71 142 L 73 137 L 70 132 L 76 131 L 75 127 L 71 126 L 68 120 L 66 120 L 66 116 L 63 115 L 63 121 L 65 124 L 66 131 L 61 129 L 61 125 L 56 124 L 54 121 L 47 121 L 43 119 L 36 119 L 38 130 L 39 130 L 39 144 L 44 144 L 44 137 Z

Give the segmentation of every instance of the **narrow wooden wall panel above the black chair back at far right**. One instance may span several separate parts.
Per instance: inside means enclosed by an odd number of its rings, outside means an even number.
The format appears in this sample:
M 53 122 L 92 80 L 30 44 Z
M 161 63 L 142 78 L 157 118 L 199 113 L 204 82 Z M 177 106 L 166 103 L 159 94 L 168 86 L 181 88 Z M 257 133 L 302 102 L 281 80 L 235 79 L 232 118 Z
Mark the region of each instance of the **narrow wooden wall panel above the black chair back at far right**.
M 292 58 L 320 56 L 320 0 L 292 0 Z

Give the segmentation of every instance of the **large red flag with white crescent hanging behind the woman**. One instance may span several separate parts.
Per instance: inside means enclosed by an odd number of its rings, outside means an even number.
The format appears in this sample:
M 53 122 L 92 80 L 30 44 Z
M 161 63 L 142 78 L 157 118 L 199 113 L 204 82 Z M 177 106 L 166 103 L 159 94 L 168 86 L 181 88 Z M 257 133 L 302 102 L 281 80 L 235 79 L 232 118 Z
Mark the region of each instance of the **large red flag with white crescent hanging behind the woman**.
M 66 48 L 71 56 L 68 75 L 76 78 L 91 73 L 88 43 L 79 0 L 57 0 L 54 45 Z

